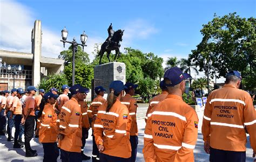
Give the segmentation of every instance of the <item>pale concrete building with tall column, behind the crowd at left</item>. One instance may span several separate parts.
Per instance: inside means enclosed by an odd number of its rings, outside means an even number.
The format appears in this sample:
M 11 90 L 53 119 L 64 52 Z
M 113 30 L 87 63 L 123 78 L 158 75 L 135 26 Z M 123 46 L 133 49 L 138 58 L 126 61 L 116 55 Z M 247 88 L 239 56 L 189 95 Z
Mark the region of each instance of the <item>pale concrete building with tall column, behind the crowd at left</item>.
M 63 71 L 64 60 L 42 57 L 42 26 L 36 20 L 31 33 L 31 53 L 0 50 L 0 68 L 0 90 L 10 90 L 37 86 L 43 76 Z

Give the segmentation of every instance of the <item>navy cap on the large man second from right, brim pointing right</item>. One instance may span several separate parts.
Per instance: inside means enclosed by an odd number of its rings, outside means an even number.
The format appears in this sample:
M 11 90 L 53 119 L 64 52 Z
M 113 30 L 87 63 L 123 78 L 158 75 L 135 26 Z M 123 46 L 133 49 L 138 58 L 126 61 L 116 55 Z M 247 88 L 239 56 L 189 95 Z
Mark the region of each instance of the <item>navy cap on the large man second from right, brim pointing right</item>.
M 180 68 L 173 67 L 173 68 L 168 69 L 164 73 L 164 78 L 167 78 L 171 81 L 170 84 L 165 83 L 165 86 L 166 87 L 173 87 L 173 86 L 179 84 L 184 79 L 192 78 L 192 77 L 190 76 L 190 74 L 183 73 Z

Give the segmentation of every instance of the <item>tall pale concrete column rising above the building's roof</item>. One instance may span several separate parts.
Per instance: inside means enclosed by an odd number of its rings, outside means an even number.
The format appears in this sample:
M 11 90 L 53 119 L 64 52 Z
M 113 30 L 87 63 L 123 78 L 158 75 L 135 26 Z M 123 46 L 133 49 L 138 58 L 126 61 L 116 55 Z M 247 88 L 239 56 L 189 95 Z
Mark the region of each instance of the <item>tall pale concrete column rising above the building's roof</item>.
M 40 61 L 42 54 L 42 26 L 41 21 L 36 20 L 34 28 L 32 30 L 32 54 L 33 54 L 33 65 L 32 65 L 32 85 L 37 86 L 40 82 Z

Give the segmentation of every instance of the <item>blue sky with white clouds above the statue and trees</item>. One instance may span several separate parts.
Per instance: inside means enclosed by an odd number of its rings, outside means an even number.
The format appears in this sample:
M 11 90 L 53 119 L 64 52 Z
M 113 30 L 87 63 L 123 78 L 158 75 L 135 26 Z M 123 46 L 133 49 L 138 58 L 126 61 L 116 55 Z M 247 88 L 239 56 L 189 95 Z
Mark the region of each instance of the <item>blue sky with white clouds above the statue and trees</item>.
M 107 27 L 124 31 L 121 52 L 132 47 L 162 57 L 187 58 L 203 36 L 203 24 L 217 16 L 237 12 L 240 17 L 256 16 L 255 0 L 0 0 L 0 49 L 31 53 L 31 30 L 42 21 L 42 55 L 57 58 L 68 49 L 59 41 L 66 26 L 68 40 L 85 31 L 85 52 L 93 59 L 93 47 L 107 38 Z M 165 66 L 165 64 L 163 64 Z M 200 74 L 202 75 L 202 74 Z

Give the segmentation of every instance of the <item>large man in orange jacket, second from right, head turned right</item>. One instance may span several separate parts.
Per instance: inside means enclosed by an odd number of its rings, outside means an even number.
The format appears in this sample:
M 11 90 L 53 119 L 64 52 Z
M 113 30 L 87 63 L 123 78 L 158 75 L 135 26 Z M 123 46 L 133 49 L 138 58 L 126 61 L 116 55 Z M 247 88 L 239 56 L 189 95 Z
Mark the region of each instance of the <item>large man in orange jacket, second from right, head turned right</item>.
M 178 67 L 165 72 L 169 95 L 148 114 L 143 149 L 146 162 L 194 161 L 198 117 L 182 99 L 185 79 L 190 77 Z

